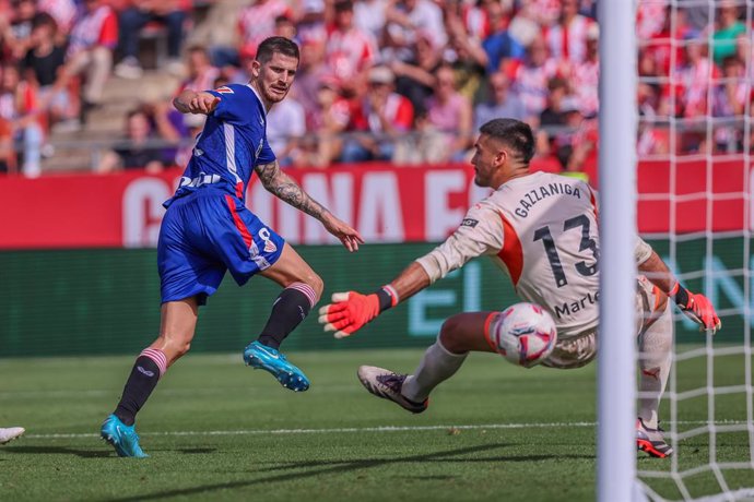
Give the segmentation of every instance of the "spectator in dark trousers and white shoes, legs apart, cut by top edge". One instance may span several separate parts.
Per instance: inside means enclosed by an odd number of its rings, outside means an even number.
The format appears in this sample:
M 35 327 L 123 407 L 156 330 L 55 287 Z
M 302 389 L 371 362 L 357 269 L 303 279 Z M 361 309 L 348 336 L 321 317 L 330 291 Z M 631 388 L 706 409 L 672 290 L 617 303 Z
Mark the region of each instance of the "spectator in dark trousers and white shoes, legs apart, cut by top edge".
M 120 23 L 120 51 L 123 59 L 116 65 L 115 74 L 121 79 L 139 79 L 143 70 L 139 62 L 139 35 L 150 22 L 167 27 L 167 71 L 180 74 L 180 44 L 184 40 L 184 22 L 188 5 L 184 0 L 131 0 L 118 16 Z

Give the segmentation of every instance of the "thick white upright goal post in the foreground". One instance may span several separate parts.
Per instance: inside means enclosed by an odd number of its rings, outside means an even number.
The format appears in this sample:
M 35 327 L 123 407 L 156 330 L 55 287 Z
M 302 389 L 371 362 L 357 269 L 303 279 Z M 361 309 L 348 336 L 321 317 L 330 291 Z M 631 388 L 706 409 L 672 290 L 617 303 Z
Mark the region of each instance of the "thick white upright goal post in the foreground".
M 636 480 L 636 9 L 603 0 L 600 23 L 600 345 L 597 494 L 633 499 Z

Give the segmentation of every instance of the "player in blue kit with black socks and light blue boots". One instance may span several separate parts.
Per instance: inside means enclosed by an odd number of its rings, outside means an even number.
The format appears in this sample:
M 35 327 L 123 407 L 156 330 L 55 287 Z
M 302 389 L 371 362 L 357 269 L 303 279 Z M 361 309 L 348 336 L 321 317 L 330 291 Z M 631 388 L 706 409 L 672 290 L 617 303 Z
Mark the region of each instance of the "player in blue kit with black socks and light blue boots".
M 283 287 L 267 325 L 244 350 L 246 364 L 272 373 L 292 391 L 309 387 L 306 375 L 279 348 L 319 300 L 322 279 L 246 208 L 252 172 L 271 193 L 319 219 L 349 251 L 358 250 L 364 240 L 283 172 L 268 144 L 267 113 L 291 89 L 298 59 L 295 43 L 268 38 L 257 49 L 248 84 L 187 89 L 173 101 L 182 113 L 207 115 L 207 122 L 175 195 L 164 204 L 167 212 L 157 243 L 160 336 L 137 358 L 120 403 L 102 426 L 102 437 L 120 456 L 146 456 L 134 430 L 136 415 L 158 379 L 188 351 L 199 306 L 217 289 L 226 271 L 238 285 L 259 274 Z

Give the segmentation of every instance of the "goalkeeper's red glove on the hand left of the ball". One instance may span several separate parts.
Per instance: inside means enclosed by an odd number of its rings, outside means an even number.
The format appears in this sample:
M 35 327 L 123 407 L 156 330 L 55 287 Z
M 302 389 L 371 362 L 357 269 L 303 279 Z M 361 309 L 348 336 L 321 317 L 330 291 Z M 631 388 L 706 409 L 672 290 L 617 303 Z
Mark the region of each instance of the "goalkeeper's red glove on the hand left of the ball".
M 319 323 L 325 324 L 325 331 L 335 332 L 335 338 L 344 338 L 396 304 L 398 295 L 391 286 L 385 286 L 372 295 L 335 292 L 332 303 L 319 309 Z

